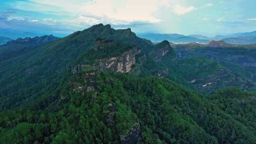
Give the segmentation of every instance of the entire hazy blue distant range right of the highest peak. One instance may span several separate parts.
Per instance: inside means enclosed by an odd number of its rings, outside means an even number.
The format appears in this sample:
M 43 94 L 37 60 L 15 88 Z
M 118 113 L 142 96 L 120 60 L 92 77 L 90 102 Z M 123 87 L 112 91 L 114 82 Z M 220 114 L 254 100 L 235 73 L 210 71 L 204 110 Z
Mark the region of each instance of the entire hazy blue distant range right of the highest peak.
M 180 34 L 154 34 L 154 33 L 144 33 L 138 34 L 138 36 L 149 39 L 155 43 L 161 42 L 163 40 L 168 40 L 172 43 L 200 43 L 208 44 L 212 40 L 222 40 L 226 43 L 237 44 L 237 45 L 247 45 L 256 44 L 256 31 L 246 32 L 246 33 L 236 33 L 227 36 L 214 36 L 208 37 L 203 35 L 180 35 Z

